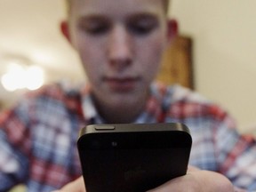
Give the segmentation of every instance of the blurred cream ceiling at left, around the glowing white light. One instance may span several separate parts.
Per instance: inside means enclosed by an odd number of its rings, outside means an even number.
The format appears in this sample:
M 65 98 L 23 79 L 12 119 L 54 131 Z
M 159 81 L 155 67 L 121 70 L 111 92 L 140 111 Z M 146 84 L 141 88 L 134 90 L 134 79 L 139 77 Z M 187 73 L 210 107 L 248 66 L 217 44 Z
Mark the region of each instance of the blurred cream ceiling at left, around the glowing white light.
M 64 0 L 1 0 L 0 76 L 8 60 L 25 59 L 43 67 L 48 81 L 82 78 L 76 53 L 60 34 L 64 18 Z M 9 94 L 0 86 L 0 100 Z

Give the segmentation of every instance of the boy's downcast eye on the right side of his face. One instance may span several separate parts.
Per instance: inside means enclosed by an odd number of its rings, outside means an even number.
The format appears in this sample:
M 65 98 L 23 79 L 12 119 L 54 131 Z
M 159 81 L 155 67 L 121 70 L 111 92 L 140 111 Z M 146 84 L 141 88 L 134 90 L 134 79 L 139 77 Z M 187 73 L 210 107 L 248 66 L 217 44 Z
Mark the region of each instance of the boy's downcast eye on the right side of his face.
M 158 27 L 158 20 L 153 16 L 139 16 L 128 22 L 128 30 L 135 35 L 145 36 Z

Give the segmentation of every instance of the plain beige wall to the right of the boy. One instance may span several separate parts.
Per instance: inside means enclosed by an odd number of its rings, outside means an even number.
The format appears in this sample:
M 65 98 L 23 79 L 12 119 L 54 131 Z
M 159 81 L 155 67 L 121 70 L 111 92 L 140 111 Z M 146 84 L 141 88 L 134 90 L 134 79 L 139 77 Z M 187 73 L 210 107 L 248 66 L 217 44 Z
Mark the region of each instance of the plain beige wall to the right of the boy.
M 256 130 L 256 1 L 172 0 L 180 32 L 192 36 L 196 91 Z

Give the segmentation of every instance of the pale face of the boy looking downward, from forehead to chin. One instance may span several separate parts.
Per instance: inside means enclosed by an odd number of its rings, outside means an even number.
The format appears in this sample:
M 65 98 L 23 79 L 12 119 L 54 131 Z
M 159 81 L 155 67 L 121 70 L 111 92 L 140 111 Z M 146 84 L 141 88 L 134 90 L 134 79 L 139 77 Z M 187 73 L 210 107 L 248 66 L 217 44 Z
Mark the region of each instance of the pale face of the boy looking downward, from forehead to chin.
M 144 98 L 168 42 L 162 0 L 73 0 L 68 39 L 98 100 Z

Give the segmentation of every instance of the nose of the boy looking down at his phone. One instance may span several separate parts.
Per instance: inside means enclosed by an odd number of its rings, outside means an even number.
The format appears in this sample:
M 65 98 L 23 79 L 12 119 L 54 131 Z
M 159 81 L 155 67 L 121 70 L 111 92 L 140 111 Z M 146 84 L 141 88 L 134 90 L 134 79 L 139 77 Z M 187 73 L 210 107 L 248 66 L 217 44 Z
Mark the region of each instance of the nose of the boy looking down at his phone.
M 118 69 L 132 63 L 132 37 L 121 25 L 112 28 L 109 35 L 108 58 L 109 63 Z

